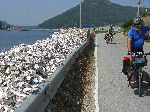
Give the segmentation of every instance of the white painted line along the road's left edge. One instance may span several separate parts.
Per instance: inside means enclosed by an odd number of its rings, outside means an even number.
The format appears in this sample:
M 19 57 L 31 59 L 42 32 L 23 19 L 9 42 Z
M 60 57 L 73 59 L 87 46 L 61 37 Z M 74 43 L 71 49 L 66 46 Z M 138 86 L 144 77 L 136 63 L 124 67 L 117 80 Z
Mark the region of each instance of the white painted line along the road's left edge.
M 97 37 L 95 37 L 95 87 L 94 87 L 94 100 L 95 100 L 95 112 L 99 112 L 99 103 L 98 103 L 98 67 L 97 67 Z

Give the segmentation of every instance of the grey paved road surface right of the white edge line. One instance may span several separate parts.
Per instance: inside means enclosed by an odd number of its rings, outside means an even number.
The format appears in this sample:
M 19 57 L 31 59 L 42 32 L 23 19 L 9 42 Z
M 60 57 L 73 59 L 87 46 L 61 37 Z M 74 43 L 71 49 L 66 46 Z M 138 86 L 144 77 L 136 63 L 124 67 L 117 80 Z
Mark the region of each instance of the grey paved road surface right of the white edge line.
M 105 43 L 104 34 L 97 35 L 97 66 L 99 76 L 100 112 L 150 112 L 150 90 L 144 97 L 128 87 L 127 77 L 121 73 L 122 58 L 127 54 L 126 38 L 115 35 L 114 44 Z M 146 50 L 150 47 L 146 45 Z M 148 58 L 150 69 L 150 59 Z M 150 73 L 150 70 L 146 71 Z

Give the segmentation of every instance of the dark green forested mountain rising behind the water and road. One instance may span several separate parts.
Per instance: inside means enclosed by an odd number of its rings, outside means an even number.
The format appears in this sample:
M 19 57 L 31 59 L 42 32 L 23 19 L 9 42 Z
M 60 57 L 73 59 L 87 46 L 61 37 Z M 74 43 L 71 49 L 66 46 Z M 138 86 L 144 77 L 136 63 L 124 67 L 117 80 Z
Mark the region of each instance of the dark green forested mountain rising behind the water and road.
M 143 9 L 145 10 L 145 9 Z M 80 6 L 41 23 L 41 28 L 79 27 Z M 84 0 L 82 2 L 82 26 L 122 25 L 136 17 L 137 8 L 121 6 L 109 0 Z

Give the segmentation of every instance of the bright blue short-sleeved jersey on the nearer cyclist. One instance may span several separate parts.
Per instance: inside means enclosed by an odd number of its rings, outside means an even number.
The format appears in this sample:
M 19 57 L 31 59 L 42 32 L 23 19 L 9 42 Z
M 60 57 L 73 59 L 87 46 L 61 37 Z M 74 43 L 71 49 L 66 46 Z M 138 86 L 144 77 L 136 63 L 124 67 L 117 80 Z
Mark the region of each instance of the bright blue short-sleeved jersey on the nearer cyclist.
M 148 26 L 142 26 L 142 34 L 139 34 L 135 28 L 131 28 L 128 32 L 128 38 L 132 39 L 132 48 L 142 48 L 144 45 L 144 39 L 146 38 L 147 31 L 150 30 Z

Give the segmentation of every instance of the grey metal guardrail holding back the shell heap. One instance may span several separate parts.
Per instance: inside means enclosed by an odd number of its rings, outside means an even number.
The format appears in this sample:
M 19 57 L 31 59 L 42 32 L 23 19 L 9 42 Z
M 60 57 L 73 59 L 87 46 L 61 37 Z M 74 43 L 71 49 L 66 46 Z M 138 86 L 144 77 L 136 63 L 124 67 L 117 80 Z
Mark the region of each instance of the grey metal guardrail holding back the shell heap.
M 44 112 L 46 106 L 53 99 L 55 93 L 64 80 L 65 73 L 69 70 L 75 59 L 88 46 L 90 32 L 87 34 L 87 41 L 62 63 L 62 65 L 48 78 L 39 85 L 38 91 L 29 95 L 15 112 Z

